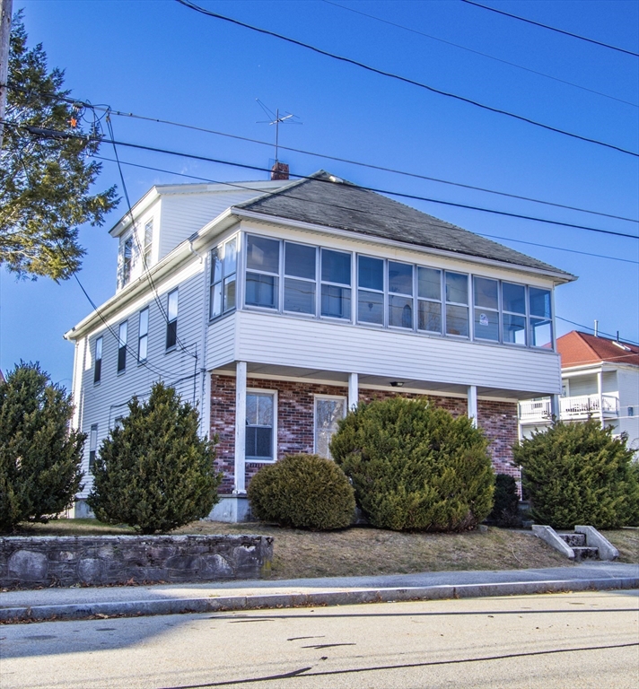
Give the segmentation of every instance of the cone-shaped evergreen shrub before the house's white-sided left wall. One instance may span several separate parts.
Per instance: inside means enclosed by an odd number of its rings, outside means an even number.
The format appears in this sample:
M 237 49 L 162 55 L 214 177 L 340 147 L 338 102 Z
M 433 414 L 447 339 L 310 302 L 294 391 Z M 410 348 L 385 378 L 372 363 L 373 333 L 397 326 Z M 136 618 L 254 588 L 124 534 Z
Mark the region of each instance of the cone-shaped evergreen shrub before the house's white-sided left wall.
M 148 402 L 134 397 L 128 409 L 93 466 L 87 502 L 95 516 L 142 534 L 206 517 L 222 477 L 214 471 L 214 443 L 197 435 L 197 410 L 162 383 L 153 386 Z

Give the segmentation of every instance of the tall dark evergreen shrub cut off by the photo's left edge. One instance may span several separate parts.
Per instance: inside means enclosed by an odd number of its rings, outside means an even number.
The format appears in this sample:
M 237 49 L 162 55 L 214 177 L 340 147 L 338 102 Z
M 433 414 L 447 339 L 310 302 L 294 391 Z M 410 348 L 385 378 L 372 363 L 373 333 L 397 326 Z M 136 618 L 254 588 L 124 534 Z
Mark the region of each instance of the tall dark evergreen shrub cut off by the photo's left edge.
M 82 490 L 84 434 L 69 429 L 71 397 L 38 363 L 0 383 L 0 530 L 46 522 Z

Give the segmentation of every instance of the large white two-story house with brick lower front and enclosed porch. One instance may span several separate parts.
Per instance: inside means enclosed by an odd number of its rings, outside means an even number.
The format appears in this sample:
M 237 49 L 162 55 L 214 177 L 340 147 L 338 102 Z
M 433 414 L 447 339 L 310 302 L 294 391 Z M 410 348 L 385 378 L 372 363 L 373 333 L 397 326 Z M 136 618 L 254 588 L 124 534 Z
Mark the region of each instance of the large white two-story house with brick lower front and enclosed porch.
M 110 232 L 118 290 L 66 333 L 87 475 L 161 378 L 218 436 L 227 520 L 265 463 L 328 456 L 358 400 L 427 395 L 468 414 L 517 475 L 518 401 L 561 391 L 553 289 L 573 275 L 328 172 L 154 187 Z

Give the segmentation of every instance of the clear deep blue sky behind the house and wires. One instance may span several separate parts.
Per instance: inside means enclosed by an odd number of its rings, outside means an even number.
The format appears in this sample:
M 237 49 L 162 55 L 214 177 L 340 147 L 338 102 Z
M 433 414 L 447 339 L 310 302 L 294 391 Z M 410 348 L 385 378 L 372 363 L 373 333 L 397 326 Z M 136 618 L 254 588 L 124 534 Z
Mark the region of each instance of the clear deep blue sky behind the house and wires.
M 198 4 L 442 91 L 639 151 L 637 57 L 460 0 L 199 0 Z M 485 4 L 639 52 L 637 2 L 486 0 Z M 49 66 L 66 69 L 66 88 L 76 98 L 272 142 L 273 127 L 258 124 L 265 119 L 258 98 L 271 109 L 293 112 L 303 122 L 302 126 L 281 128 L 280 143 L 284 145 L 600 213 L 639 216 L 639 158 L 635 156 L 371 74 L 203 16 L 172 0 L 14 0 L 14 9 L 21 7 L 30 44 L 41 42 Z M 118 140 L 260 168 L 272 164 L 275 154 L 272 146 L 131 118 L 114 117 L 113 127 Z M 158 153 L 132 149 L 118 153 L 123 161 L 206 179 L 266 177 L 238 167 Z M 104 144 L 101 155 L 112 158 L 113 151 Z M 302 175 L 324 168 L 363 186 L 638 233 L 636 222 L 301 153 L 281 152 L 279 157 L 290 164 L 293 173 Z M 189 181 L 131 166 L 124 170 L 131 203 L 153 184 Z M 121 194 L 117 167 L 106 161 L 97 188 L 114 183 Z M 513 249 L 579 275 L 576 283 L 556 290 L 557 316 L 589 327 L 597 318 L 600 330 L 612 334 L 618 330 L 622 338 L 639 340 L 638 241 L 447 205 L 410 203 L 470 231 L 508 238 L 503 243 Z M 97 303 L 115 292 L 118 247 L 108 230 L 125 212 L 123 200 L 103 227 L 80 230 L 88 253 L 79 278 Z M 626 260 L 590 257 L 556 247 Z M 66 343 L 62 334 L 91 310 L 73 279 L 61 284 L 47 279 L 16 282 L 0 269 L 0 368 L 6 371 L 20 359 L 39 361 L 52 379 L 70 387 L 73 345 Z M 561 335 L 573 325 L 558 320 L 557 329 Z

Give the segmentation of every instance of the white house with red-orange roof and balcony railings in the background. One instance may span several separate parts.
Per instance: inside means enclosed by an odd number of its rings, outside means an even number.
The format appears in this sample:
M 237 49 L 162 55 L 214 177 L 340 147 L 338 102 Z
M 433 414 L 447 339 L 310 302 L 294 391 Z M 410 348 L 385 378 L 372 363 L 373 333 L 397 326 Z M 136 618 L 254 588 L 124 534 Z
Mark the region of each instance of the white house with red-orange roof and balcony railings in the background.
M 639 449 L 639 347 L 576 330 L 557 338 L 561 355 L 562 421 L 598 419 L 615 435 L 628 434 L 630 447 Z M 520 403 L 521 437 L 547 428 L 550 400 Z

